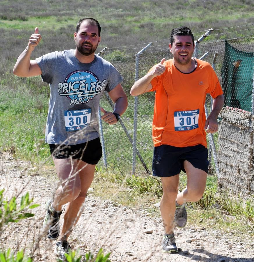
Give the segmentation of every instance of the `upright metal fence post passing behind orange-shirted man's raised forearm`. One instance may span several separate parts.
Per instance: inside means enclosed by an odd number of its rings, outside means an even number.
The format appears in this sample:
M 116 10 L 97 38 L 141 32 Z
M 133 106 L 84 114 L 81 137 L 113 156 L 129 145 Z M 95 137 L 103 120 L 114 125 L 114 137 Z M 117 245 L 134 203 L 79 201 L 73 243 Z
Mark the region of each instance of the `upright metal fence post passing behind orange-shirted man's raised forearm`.
M 141 49 L 135 56 L 135 82 L 138 81 L 138 70 L 139 70 L 139 56 L 142 54 L 145 49 L 147 49 L 150 45 L 152 45 L 152 42 L 150 42 L 148 45 L 146 45 L 143 49 Z M 134 99 L 134 126 L 133 126 L 133 153 L 132 153 L 132 174 L 135 174 L 136 171 L 136 152 L 137 152 L 137 122 L 138 122 L 138 97 L 135 96 Z

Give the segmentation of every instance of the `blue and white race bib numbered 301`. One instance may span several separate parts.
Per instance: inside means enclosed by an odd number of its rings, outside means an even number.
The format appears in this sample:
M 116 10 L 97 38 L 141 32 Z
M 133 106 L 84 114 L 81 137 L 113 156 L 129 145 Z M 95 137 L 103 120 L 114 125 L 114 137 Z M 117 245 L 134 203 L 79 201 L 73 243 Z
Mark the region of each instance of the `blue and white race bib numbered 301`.
M 175 131 L 185 131 L 198 128 L 199 109 L 191 111 L 175 111 Z

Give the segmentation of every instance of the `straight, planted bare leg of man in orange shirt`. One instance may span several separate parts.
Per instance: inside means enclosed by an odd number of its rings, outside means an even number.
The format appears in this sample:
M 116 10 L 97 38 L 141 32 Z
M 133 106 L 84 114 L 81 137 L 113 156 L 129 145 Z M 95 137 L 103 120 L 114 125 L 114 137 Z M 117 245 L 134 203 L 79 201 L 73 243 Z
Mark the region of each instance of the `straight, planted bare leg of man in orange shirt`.
M 179 174 L 170 177 L 161 177 L 163 195 L 161 197 L 160 210 L 165 233 L 173 233 L 175 216 L 175 199 L 178 192 Z

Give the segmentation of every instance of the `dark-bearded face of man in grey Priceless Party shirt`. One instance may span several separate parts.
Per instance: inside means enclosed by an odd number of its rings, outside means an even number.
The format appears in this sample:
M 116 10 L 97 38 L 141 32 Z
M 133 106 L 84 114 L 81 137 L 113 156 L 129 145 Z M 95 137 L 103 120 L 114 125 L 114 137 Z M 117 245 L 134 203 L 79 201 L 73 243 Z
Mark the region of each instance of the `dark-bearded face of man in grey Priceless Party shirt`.
M 93 54 L 100 43 L 98 27 L 89 24 L 89 21 L 82 22 L 78 33 L 74 33 L 76 49 L 84 56 Z

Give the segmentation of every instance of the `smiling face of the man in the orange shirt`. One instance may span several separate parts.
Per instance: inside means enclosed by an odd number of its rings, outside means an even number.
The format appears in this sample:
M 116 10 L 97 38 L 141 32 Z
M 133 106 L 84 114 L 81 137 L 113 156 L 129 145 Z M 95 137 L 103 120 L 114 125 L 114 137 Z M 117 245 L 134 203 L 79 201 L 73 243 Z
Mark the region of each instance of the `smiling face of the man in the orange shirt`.
M 169 44 L 169 49 L 175 61 L 181 65 L 188 64 L 194 52 L 191 36 L 175 36 L 173 44 Z

